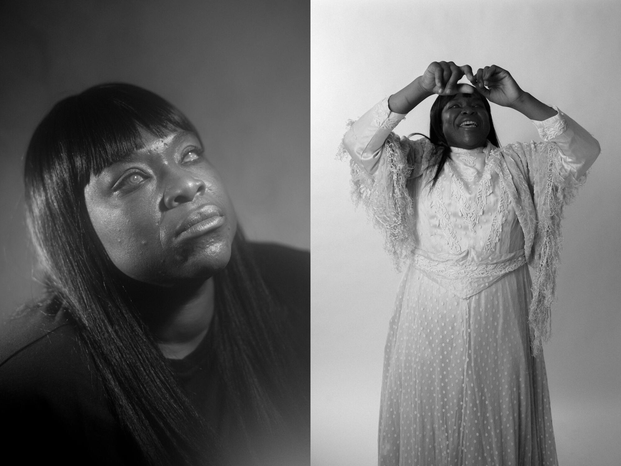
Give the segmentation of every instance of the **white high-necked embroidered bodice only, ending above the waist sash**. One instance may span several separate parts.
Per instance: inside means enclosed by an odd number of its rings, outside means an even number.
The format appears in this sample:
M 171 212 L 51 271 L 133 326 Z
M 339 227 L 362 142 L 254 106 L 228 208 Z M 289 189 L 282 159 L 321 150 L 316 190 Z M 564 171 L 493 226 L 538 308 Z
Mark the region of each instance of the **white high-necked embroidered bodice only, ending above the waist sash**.
M 509 194 L 487 162 L 492 145 L 451 152 L 433 188 L 433 171 L 412 180 L 415 242 L 430 252 L 474 249 L 508 253 L 524 248 L 524 234 Z

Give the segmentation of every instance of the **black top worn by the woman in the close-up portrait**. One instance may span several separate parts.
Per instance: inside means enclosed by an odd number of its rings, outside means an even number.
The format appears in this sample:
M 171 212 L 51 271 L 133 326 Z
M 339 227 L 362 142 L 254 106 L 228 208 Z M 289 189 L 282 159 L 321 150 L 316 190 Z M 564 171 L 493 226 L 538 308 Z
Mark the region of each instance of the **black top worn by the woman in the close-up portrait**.
M 274 244 L 250 244 L 270 291 L 289 309 L 302 373 L 307 418 L 302 420 L 300 464 L 309 463 L 310 254 Z M 194 406 L 217 432 L 229 427 L 224 393 L 213 377 L 209 332 L 191 354 L 169 360 Z M 112 415 L 94 368 L 78 345 L 75 327 L 60 312 L 31 309 L 0 329 L 0 434 L 3 455 L 20 464 L 58 459 L 63 464 L 134 465 L 134 441 Z M 299 445 L 296 449 L 300 449 Z

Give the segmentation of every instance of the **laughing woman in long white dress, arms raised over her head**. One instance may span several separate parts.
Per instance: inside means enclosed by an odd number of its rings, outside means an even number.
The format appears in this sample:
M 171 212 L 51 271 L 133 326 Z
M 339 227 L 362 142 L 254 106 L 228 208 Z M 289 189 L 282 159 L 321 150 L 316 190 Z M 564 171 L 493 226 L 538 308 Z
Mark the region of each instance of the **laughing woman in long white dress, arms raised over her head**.
M 474 87 L 458 85 L 464 75 Z M 391 133 L 432 94 L 429 138 Z M 487 99 L 545 142 L 500 147 Z M 379 464 L 555 465 L 541 344 L 561 211 L 599 144 L 499 66 L 433 62 L 343 145 L 355 199 L 397 266 L 409 262 L 386 342 Z

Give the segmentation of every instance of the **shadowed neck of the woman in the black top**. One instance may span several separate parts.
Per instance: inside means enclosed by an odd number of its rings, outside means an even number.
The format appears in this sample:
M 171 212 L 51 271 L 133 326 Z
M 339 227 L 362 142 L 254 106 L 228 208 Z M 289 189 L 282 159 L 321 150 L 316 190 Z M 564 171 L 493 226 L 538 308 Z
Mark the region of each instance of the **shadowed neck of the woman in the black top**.
M 169 359 L 194 351 L 214 316 L 214 278 L 189 286 L 148 287 L 134 299 L 143 321 Z

